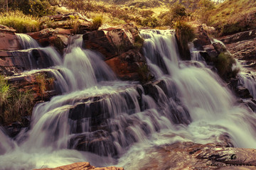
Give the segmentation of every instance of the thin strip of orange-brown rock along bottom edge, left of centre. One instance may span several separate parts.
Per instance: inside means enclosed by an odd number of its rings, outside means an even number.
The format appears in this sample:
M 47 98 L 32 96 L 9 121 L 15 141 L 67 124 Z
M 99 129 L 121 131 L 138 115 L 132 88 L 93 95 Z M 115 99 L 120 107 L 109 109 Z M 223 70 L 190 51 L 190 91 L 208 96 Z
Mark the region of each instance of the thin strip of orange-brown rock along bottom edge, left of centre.
M 70 169 L 73 169 L 73 170 L 124 170 L 123 168 L 115 167 L 115 166 L 96 168 L 95 166 L 90 165 L 89 162 L 78 162 L 75 164 L 59 166 L 57 168 L 52 168 L 52 169 L 46 168 L 41 170 L 70 170 Z M 34 170 L 37 170 L 37 169 L 34 169 Z

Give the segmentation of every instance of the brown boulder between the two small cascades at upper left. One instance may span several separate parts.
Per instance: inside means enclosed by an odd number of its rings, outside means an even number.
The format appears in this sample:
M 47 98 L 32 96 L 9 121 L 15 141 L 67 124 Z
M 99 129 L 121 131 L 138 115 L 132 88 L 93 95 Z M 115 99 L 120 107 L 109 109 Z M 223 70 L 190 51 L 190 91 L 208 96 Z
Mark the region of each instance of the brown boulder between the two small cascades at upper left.
M 28 33 L 28 35 L 37 40 L 41 46 L 53 46 L 60 53 L 63 53 L 63 49 L 68 46 L 68 38 L 70 38 L 71 34 L 70 29 L 63 28 L 46 28 L 35 33 Z

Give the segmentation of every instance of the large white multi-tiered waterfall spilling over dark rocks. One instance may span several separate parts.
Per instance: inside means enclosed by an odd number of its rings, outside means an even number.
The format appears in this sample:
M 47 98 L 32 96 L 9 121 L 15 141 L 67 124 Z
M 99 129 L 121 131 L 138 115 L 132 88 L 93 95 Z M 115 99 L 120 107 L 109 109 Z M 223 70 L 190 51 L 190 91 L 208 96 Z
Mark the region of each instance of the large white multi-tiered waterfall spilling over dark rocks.
M 9 139 L 0 130 L 0 169 L 55 167 L 73 162 L 139 167 L 145 151 L 174 142 L 223 142 L 256 148 L 256 115 L 198 57 L 179 59 L 174 33 L 142 30 L 152 84 L 119 81 L 96 52 L 75 36 L 53 59 L 60 96 L 33 109 L 31 125 Z M 18 35 L 24 49 L 38 48 Z M 31 66 L 33 68 L 33 66 Z M 36 72 L 36 70 L 28 72 Z M 81 151 L 78 151 L 79 149 Z

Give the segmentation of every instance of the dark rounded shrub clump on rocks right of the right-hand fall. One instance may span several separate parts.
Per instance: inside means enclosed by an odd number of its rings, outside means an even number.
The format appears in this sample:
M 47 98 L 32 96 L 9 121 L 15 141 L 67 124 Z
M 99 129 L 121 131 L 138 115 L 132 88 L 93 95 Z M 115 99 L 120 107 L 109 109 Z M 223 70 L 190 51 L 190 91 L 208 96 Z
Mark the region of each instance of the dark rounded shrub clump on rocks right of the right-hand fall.
M 215 67 L 218 69 L 220 77 L 230 79 L 238 74 L 239 69 L 233 69 L 235 59 L 228 52 L 221 52 L 218 57 L 213 60 Z

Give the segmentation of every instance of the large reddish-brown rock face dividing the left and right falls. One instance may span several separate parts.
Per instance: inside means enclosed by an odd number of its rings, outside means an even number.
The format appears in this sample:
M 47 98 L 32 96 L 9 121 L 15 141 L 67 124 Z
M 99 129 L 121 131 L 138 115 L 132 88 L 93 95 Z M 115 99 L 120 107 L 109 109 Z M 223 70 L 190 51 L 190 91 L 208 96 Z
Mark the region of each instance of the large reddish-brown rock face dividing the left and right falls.
M 83 35 L 85 48 L 105 56 L 105 61 L 123 80 L 142 80 L 148 77 L 146 59 L 139 51 L 142 47 L 139 30 L 132 24 L 95 30 Z M 145 67 L 144 70 L 140 68 Z

